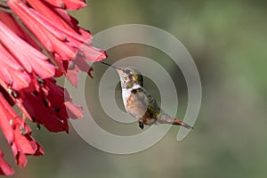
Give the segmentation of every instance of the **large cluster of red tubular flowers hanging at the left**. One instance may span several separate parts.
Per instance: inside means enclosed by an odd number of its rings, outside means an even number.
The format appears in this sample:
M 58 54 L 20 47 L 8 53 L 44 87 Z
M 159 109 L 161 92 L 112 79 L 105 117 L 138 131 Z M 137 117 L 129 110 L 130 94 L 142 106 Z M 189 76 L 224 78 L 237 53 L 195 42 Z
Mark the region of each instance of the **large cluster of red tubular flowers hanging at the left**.
M 44 154 L 26 119 L 38 128 L 68 133 L 68 118 L 83 117 L 82 108 L 55 77 L 65 76 L 77 86 L 77 72 L 92 77 L 86 61 L 107 57 L 93 48 L 91 33 L 66 12 L 83 7 L 85 0 L 0 1 L 0 128 L 20 167 L 26 166 L 28 155 Z M 14 174 L 1 150 L 0 174 Z

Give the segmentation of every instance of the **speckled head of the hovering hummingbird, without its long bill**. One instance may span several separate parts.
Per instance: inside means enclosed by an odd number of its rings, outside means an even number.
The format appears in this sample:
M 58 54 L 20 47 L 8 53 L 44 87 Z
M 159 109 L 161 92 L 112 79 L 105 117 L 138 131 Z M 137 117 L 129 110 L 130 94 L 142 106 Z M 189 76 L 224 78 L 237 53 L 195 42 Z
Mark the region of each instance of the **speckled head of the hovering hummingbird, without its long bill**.
M 122 88 L 132 88 L 134 85 L 142 86 L 142 74 L 137 69 L 117 68 Z

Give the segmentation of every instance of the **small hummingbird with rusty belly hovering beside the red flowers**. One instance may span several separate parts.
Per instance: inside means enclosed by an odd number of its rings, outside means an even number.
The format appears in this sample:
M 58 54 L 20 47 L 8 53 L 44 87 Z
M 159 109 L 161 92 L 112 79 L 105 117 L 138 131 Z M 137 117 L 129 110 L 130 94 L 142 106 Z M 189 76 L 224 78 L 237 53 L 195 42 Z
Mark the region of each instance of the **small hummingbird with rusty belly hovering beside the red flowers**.
M 101 63 L 117 70 L 122 89 L 122 99 L 125 110 L 138 119 L 139 127 L 153 124 L 182 125 L 193 129 L 192 126 L 182 122 L 178 118 L 171 117 L 158 106 L 158 102 L 143 87 L 143 77 L 139 70 L 132 68 L 117 68 L 104 61 Z

